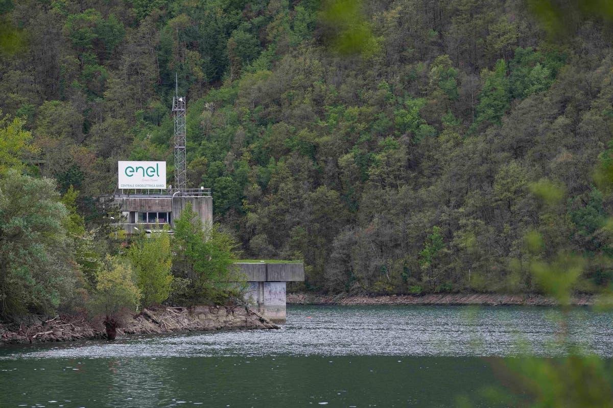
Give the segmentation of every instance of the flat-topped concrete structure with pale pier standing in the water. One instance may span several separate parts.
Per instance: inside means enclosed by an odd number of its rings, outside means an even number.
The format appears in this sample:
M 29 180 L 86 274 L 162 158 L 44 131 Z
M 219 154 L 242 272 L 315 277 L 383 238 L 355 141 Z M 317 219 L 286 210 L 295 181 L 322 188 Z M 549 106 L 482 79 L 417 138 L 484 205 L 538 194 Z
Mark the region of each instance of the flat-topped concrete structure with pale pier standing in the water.
M 236 265 L 246 276 L 249 289 L 245 299 L 254 310 L 268 320 L 286 320 L 286 283 L 305 280 L 305 265 L 298 262 L 239 262 Z

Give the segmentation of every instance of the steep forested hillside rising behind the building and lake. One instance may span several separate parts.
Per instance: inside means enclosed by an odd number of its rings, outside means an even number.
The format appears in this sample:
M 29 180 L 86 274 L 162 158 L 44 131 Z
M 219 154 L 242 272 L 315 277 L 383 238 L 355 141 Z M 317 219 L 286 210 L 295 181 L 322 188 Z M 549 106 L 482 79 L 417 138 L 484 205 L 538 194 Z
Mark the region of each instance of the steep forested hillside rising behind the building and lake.
M 613 33 L 546 3 L 5 0 L 0 108 L 90 227 L 116 161 L 172 177 L 177 73 L 189 184 L 245 257 L 304 259 L 306 289 L 534 291 L 572 264 L 595 291 Z

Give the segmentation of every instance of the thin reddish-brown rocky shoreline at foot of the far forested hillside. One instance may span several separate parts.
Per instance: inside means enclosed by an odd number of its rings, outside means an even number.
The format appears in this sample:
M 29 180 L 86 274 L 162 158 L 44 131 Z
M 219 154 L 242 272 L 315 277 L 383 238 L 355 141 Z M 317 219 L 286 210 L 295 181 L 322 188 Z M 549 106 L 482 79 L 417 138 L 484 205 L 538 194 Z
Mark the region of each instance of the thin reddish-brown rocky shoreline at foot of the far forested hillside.
M 572 297 L 573 305 L 577 306 L 593 305 L 594 300 L 595 297 L 593 295 L 576 295 Z M 555 299 L 539 294 L 505 295 L 483 293 L 371 296 L 288 293 L 287 303 L 295 305 L 557 305 Z

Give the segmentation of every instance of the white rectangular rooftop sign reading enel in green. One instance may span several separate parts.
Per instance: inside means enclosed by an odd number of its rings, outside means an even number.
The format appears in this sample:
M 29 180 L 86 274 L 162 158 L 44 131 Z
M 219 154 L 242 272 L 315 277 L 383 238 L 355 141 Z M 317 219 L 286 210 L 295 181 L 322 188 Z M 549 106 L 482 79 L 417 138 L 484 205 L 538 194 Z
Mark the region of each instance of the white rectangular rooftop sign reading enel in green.
M 166 161 L 120 161 L 119 188 L 166 188 Z

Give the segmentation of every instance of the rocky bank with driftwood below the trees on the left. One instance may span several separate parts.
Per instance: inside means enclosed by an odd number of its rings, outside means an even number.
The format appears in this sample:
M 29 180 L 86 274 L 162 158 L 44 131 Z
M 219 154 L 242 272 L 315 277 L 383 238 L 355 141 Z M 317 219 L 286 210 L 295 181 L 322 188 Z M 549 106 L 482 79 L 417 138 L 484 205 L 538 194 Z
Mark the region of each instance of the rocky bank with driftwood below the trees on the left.
M 210 330 L 270 329 L 277 325 L 245 306 L 160 307 L 144 309 L 135 316 L 123 316 L 117 329 L 122 335 L 200 332 Z M 101 319 L 57 316 L 29 325 L 0 324 L 0 344 L 31 344 L 51 341 L 104 339 Z

